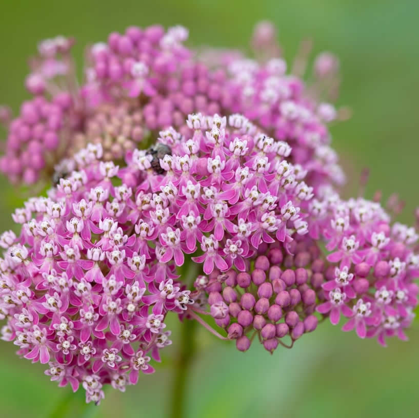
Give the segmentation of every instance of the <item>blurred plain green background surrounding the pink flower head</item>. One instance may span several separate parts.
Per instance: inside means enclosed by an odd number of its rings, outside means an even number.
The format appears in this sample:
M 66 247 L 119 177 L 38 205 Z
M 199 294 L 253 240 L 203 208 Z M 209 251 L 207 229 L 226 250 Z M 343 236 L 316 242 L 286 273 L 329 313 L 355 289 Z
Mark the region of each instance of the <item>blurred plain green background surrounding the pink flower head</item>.
M 371 170 L 367 196 L 398 192 L 407 201 L 401 219 L 411 223 L 417 194 L 419 143 L 419 2 L 417 0 L 177 0 L 0 2 L 0 102 L 14 111 L 26 97 L 27 57 L 36 43 L 57 34 L 74 35 L 78 62 L 83 46 L 129 25 L 182 24 L 192 45 L 246 49 L 254 24 L 273 20 L 288 59 L 302 38 L 314 51 L 330 50 L 342 64 L 340 104 L 353 117 L 332 128 L 333 146 L 349 173 L 346 194 L 356 193 L 361 170 Z M 4 132 L 2 132 L 3 136 Z M 1 179 L 0 227 L 20 204 Z M 172 321 L 173 340 L 179 330 Z M 188 381 L 185 416 L 346 417 L 419 416 L 419 321 L 410 342 L 384 349 L 354 333 L 323 324 L 292 350 L 273 356 L 259 344 L 246 354 L 234 344 L 197 335 L 197 355 Z M 110 389 L 99 407 L 83 407 L 83 393 L 70 395 L 43 375 L 44 367 L 14 356 L 0 344 L 0 405 L 3 417 L 164 417 L 170 400 L 176 345 L 166 349 L 157 372 L 121 393 Z M 172 359 L 172 360 L 171 360 Z M 79 392 L 83 392 L 82 390 Z M 55 415 L 54 415 L 55 411 Z

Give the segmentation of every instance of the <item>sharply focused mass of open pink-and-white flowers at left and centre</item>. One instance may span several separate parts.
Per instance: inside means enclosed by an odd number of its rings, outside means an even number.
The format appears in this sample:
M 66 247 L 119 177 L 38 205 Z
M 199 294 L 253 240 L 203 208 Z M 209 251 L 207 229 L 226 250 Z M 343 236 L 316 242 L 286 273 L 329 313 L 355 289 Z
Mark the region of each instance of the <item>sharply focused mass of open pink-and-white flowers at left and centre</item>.
M 241 115 L 229 126 L 218 115 L 190 115 L 187 123 L 191 138 L 160 133 L 157 146 L 170 145 L 159 160 L 163 174 L 146 151 L 134 150 L 123 169 L 99 161 L 101 145 L 78 152 L 79 171 L 16 210 L 21 235 L 1 238 L 3 338 L 25 358 L 52 360 L 60 384 L 75 389 L 93 374 L 98 386 L 88 399 L 116 375 L 135 383 L 140 351 L 159 359 L 166 313 L 193 303 L 175 266 L 197 244 L 202 255 L 193 260 L 206 274 L 245 271 L 261 244 L 287 247 L 291 235 L 308 232 L 312 189 L 286 161 L 285 143 Z M 116 176 L 122 185 L 112 184 Z

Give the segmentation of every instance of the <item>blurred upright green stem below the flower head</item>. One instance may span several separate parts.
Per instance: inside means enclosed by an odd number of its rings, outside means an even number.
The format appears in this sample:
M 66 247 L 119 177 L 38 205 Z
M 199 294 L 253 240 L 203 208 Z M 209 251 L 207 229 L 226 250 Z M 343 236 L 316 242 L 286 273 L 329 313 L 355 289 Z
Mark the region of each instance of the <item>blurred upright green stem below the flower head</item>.
M 189 370 L 195 354 L 196 322 L 184 319 L 181 325 L 181 341 L 179 352 L 174 363 L 174 376 L 170 400 L 169 416 L 171 418 L 184 418 L 186 403 L 186 387 Z

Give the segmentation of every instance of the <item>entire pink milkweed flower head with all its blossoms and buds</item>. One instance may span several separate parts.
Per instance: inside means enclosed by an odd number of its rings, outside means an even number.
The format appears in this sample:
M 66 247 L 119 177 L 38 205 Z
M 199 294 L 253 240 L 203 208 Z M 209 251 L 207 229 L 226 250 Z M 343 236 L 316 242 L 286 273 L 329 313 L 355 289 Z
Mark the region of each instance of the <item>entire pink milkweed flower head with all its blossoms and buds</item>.
M 183 27 L 130 27 L 88 48 L 81 87 L 57 37 L 39 45 L 21 115 L 0 109 L 0 169 L 56 174 L 0 237 L 2 339 L 87 402 L 154 372 L 170 311 L 240 351 L 290 348 L 342 317 L 360 338 L 407 338 L 417 234 L 341 199 L 338 61 L 319 55 L 305 85 L 309 45 L 287 72 L 274 34 L 258 25 L 248 59 L 187 49 Z

